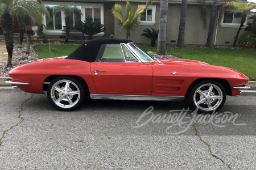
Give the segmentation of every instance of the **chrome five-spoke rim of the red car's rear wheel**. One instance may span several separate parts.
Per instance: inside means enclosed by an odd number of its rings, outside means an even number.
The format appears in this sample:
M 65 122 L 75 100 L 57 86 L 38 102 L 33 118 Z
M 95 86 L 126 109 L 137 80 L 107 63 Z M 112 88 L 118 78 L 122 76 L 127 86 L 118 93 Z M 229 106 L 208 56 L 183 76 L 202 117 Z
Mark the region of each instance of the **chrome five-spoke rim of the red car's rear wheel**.
M 59 80 L 51 89 L 52 101 L 61 108 L 71 108 L 80 100 L 80 90 L 71 80 Z

